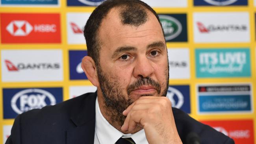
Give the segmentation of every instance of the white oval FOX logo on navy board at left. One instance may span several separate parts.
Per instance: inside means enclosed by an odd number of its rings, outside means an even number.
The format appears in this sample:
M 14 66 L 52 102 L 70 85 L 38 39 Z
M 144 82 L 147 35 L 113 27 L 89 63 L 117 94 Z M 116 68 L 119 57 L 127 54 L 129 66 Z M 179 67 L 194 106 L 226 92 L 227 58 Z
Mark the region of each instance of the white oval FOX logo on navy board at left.
M 17 114 L 55 104 L 55 97 L 43 89 L 25 89 L 11 99 L 11 107 Z

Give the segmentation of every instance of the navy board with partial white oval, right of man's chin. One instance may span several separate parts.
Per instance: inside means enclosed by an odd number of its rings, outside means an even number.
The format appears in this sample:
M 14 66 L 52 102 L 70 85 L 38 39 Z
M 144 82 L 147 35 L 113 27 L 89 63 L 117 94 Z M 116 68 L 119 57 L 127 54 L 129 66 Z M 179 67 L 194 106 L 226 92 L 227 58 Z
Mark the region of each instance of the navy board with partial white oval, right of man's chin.
M 166 97 L 171 101 L 172 107 L 190 113 L 189 85 L 169 85 Z

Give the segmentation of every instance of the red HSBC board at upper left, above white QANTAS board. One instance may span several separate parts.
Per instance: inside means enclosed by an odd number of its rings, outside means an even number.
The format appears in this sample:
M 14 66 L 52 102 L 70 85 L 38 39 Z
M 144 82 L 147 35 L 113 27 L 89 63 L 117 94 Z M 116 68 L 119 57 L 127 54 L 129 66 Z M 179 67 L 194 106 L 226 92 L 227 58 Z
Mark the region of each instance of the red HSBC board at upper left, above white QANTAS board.
M 2 43 L 60 43 L 58 13 L 1 13 Z

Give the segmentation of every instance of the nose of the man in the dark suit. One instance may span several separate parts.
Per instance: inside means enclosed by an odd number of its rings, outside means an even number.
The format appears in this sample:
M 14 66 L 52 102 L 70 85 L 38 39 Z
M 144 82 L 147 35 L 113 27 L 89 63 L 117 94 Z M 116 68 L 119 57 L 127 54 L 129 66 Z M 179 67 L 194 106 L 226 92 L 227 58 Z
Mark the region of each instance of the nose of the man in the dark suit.
M 154 67 L 152 64 L 152 61 L 150 61 L 146 56 L 138 57 L 134 66 L 134 77 L 146 78 L 148 76 L 152 76 L 154 73 Z

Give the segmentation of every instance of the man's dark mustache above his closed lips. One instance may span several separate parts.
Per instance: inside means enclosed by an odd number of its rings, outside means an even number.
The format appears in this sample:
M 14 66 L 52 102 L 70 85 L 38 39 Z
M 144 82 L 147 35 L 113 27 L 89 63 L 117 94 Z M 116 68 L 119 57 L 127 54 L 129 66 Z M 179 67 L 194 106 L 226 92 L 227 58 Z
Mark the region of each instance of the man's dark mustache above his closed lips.
M 154 79 L 152 79 L 150 77 L 146 77 L 146 78 L 139 78 L 136 81 L 134 81 L 131 85 L 129 85 L 127 88 L 127 94 L 129 95 L 130 92 L 132 92 L 135 89 L 138 89 L 139 87 L 141 87 L 143 85 L 150 85 L 152 87 L 155 87 L 158 94 L 160 94 L 160 92 L 161 92 L 160 83 L 158 83 L 157 81 L 155 81 Z

